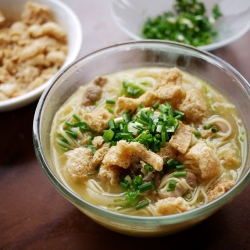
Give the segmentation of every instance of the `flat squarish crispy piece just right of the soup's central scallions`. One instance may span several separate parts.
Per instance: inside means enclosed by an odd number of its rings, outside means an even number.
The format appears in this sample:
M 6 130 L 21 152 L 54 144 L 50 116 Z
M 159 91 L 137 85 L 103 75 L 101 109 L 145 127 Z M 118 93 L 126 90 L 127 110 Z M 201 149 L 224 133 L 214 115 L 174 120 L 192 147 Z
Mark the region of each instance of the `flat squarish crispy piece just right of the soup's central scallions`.
M 185 154 L 192 141 L 193 129 L 179 121 L 179 127 L 169 140 L 169 145 Z

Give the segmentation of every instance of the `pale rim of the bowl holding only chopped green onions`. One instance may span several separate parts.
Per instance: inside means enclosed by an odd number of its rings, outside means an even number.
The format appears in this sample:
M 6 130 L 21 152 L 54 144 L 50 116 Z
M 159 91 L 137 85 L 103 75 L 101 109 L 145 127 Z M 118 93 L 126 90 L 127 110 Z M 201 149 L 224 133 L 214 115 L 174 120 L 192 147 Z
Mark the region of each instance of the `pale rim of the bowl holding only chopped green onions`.
M 109 2 L 109 8 L 110 8 L 111 16 L 112 16 L 114 22 L 116 23 L 116 25 L 125 34 L 127 34 L 130 38 L 133 38 L 135 40 L 150 40 L 150 39 L 143 38 L 143 37 L 139 36 L 138 34 L 135 34 L 135 33 L 131 32 L 129 29 L 127 29 L 125 26 L 123 26 L 122 23 L 119 21 L 119 17 L 116 15 L 116 12 L 114 10 L 114 4 L 116 3 L 116 0 L 109 0 L 109 1 L 110 1 Z M 218 42 L 211 43 L 211 44 L 204 45 L 204 46 L 198 46 L 197 48 L 202 49 L 202 50 L 206 50 L 206 51 L 211 51 L 211 50 L 215 50 L 215 49 L 224 47 L 224 46 L 236 41 L 237 39 L 239 39 L 243 35 L 245 35 L 249 29 L 250 29 L 250 19 L 244 25 L 244 27 L 242 27 L 242 29 L 238 30 L 238 32 L 235 33 L 233 36 L 228 37 L 227 39 L 224 39 L 222 41 L 218 41 Z M 157 41 L 158 39 L 154 39 L 154 40 Z M 159 40 L 159 41 L 163 41 L 163 40 Z M 171 42 L 170 40 L 164 40 L 164 41 Z

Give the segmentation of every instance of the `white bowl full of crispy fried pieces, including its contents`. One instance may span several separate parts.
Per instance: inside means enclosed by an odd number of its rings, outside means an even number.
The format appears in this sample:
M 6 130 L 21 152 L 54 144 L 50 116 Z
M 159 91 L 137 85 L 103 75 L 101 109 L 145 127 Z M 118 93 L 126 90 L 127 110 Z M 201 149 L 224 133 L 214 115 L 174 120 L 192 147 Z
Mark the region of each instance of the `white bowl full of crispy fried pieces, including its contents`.
M 0 111 L 38 99 L 81 49 L 75 13 L 56 0 L 0 1 Z

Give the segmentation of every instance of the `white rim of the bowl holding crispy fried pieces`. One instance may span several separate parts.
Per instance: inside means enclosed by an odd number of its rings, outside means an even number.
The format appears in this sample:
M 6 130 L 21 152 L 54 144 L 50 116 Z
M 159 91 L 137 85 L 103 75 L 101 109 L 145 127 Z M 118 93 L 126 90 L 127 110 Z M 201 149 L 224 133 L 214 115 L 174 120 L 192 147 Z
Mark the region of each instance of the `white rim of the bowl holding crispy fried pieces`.
M 7 100 L 0 101 L 0 112 L 18 109 L 18 108 L 21 108 L 21 107 L 37 100 L 41 96 L 43 91 L 46 89 L 46 87 L 48 87 L 53 82 L 53 78 L 56 75 L 60 74 L 60 72 L 63 70 L 63 68 L 65 68 L 71 62 L 73 62 L 78 57 L 78 55 L 81 51 L 82 41 L 83 41 L 83 32 L 82 32 L 81 22 L 80 22 L 78 16 L 76 15 L 76 13 L 70 8 L 69 5 L 65 4 L 62 1 L 46 0 L 46 2 L 52 2 L 53 4 L 59 6 L 64 12 L 68 13 L 70 18 L 73 20 L 73 23 L 74 23 L 74 26 L 76 29 L 75 33 L 77 34 L 77 39 L 75 39 L 76 44 L 74 45 L 74 49 L 73 49 L 72 53 L 67 55 L 66 61 L 61 66 L 61 68 L 56 72 L 56 74 L 52 78 L 50 78 L 49 80 L 44 82 L 41 86 L 39 86 L 39 87 L 21 95 L 21 96 L 17 96 L 17 97 L 13 97 L 13 98 L 10 98 Z

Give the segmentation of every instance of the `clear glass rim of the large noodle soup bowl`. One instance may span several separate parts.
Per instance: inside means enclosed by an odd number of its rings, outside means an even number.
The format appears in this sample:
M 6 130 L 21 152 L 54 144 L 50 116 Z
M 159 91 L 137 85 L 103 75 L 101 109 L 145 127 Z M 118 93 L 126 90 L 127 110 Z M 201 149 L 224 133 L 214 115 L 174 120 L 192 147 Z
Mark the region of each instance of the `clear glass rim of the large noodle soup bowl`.
M 64 185 L 59 178 L 56 177 L 56 175 L 53 173 L 53 171 L 50 169 L 49 164 L 47 163 L 45 156 L 43 155 L 43 148 L 41 143 L 41 128 L 40 128 L 40 122 L 42 120 L 42 111 L 43 111 L 43 105 L 46 101 L 46 97 L 49 95 L 50 90 L 53 88 L 54 84 L 59 80 L 59 78 L 64 74 L 67 73 L 69 69 L 74 67 L 74 65 L 78 64 L 82 60 L 88 60 L 89 57 L 93 57 L 96 54 L 101 54 L 103 52 L 113 50 L 120 47 L 126 47 L 129 45 L 138 45 L 138 44 L 161 44 L 161 45 L 168 45 L 168 46 L 179 46 L 188 50 L 192 50 L 196 53 L 201 54 L 205 58 L 209 59 L 209 62 L 214 62 L 217 67 L 222 67 L 225 70 L 230 71 L 236 79 L 239 79 L 242 83 L 244 83 L 244 87 L 248 88 L 247 92 L 250 94 L 250 84 L 247 82 L 247 80 L 236 70 L 234 69 L 230 64 L 228 64 L 226 61 L 220 59 L 219 57 L 207 52 L 200 50 L 198 48 L 181 44 L 178 42 L 171 42 L 171 41 L 161 41 L 161 40 L 141 40 L 141 41 L 126 41 L 122 43 L 118 43 L 115 45 L 111 45 L 108 47 L 104 47 L 102 49 L 96 50 L 90 54 L 87 54 L 75 62 L 69 64 L 66 68 L 64 68 L 64 71 L 58 74 L 57 77 L 53 79 L 53 83 L 46 88 L 46 90 L 43 92 L 42 96 L 39 99 L 39 102 L 37 104 L 37 108 L 35 110 L 34 114 L 34 120 L 33 120 L 33 143 L 35 148 L 35 154 L 36 157 L 45 173 L 49 181 L 53 184 L 53 186 L 56 188 L 56 190 L 63 195 L 66 199 L 68 199 L 70 202 L 75 204 L 76 206 L 83 208 L 91 213 L 94 213 L 96 215 L 99 215 L 101 217 L 104 217 L 106 219 L 112 219 L 116 221 L 124 221 L 124 222 L 131 222 L 131 223 L 137 223 L 140 225 L 145 224 L 154 224 L 154 225 L 171 225 L 175 224 L 176 222 L 182 223 L 187 220 L 195 220 L 198 217 L 206 217 L 206 214 L 212 214 L 214 211 L 220 209 L 222 206 L 224 206 L 226 203 L 230 202 L 234 197 L 236 197 L 239 193 L 243 191 L 243 189 L 250 183 L 250 169 L 246 171 L 244 176 L 236 183 L 236 185 L 230 189 L 229 192 L 222 195 L 220 198 L 209 202 L 206 205 L 203 205 L 201 207 L 195 208 L 190 211 L 186 211 L 181 214 L 173 214 L 173 215 L 165 215 L 165 216 L 156 216 L 156 217 L 146 217 L 146 216 L 134 216 L 134 215 L 126 215 L 121 214 L 109 210 L 105 210 L 101 207 L 95 206 L 91 204 L 88 201 L 85 201 L 82 199 L 79 195 L 77 195 L 73 190 L 71 190 L 69 187 Z M 215 208 L 214 208 L 215 207 Z

